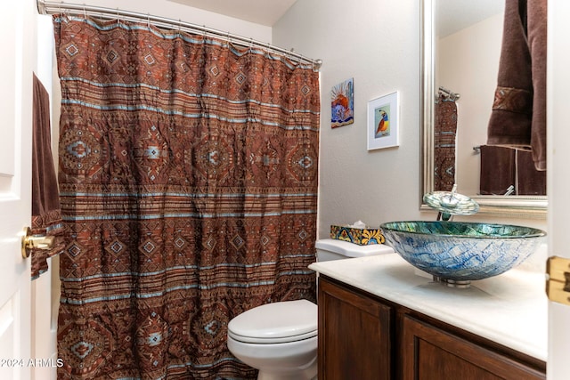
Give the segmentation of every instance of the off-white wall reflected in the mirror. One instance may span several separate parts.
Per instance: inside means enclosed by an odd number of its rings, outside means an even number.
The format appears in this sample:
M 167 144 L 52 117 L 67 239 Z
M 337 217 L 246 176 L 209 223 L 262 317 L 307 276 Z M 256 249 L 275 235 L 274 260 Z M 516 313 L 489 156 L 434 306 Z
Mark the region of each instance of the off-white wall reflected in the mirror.
M 457 176 L 461 194 L 479 193 L 481 155 L 485 145 L 501 56 L 503 13 L 477 22 L 438 41 L 436 88 L 460 93 L 457 123 Z

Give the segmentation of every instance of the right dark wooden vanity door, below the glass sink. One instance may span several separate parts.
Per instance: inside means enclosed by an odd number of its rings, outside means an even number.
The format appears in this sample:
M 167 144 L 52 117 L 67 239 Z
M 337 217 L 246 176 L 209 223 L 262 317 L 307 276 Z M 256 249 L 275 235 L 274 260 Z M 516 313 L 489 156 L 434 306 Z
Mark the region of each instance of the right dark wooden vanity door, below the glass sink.
M 410 316 L 403 317 L 402 356 L 403 380 L 546 378 L 537 369 Z

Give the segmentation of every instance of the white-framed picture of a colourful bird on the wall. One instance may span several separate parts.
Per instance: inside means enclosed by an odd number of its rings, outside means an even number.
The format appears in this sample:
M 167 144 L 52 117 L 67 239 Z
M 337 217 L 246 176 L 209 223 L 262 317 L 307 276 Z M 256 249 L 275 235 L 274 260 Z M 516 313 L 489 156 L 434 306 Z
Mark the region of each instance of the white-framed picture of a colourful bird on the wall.
M 398 102 L 397 91 L 368 102 L 368 150 L 397 147 L 400 144 Z

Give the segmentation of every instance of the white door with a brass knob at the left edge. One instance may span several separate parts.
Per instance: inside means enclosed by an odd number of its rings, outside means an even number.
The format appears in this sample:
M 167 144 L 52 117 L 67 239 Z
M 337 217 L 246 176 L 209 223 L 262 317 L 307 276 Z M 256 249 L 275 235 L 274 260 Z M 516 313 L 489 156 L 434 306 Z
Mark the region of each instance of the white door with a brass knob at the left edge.
M 31 215 L 32 72 L 35 1 L 2 3 L 0 22 L 0 378 L 30 374 L 29 260 L 21 231 Z

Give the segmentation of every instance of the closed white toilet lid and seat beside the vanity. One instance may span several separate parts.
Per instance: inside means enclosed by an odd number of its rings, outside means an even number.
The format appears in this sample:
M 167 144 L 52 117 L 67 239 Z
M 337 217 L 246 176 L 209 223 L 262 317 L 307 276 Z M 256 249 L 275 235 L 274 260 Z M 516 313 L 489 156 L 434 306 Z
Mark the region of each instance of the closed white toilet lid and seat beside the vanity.
M 307 300 L 267 303 L 230 320 L 228 335 L 240 342 L 283 343 L 317 335 L 317 305 Z

